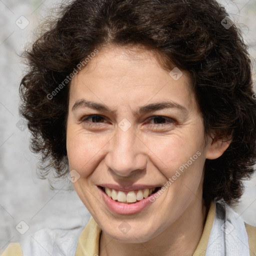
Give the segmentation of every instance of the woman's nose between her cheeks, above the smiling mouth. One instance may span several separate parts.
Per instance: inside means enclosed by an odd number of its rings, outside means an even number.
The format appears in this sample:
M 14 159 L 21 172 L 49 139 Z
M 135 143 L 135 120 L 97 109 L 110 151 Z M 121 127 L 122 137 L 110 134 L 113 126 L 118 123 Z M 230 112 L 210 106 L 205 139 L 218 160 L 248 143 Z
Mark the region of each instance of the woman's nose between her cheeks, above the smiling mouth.
M 132 126 L 126 131 L 117 127 L 115 136 L 109 141 L 105 164 L 118 176 L 137 176 L 146 168 L 144 148 L 145 145 L 134 133 Z

